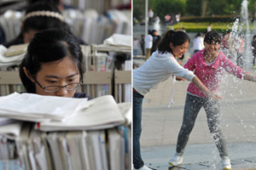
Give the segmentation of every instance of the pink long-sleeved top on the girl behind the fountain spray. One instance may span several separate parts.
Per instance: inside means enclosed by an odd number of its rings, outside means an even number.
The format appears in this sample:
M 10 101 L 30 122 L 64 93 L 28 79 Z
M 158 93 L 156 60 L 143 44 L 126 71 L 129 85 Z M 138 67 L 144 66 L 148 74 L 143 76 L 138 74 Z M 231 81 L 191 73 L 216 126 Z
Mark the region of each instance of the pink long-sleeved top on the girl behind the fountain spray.
M 214 62 L 212 62 L 211 65 L 208 65 L 204 59 L 204 52 L 205 49 L 202 49 L 198 53 L 194 54 L 184 65 L 184 68 L 189 71 L 194 71 L 195 76 L 198 77 L 213 93 L 219 91 L 219 82 L 224 75 L 224 71 L 227 71 L 238 78 L 242 78 L 247 74 L 247 72 L 243 71 L 239 66 L 234 65 L 232 61 L 221 51 L 219 51 Z M 188 92 L 200 97 L 206 97 L 206 95 L 203 94 L 203 92 L 197 88 L 193 82 L 189 84 Z

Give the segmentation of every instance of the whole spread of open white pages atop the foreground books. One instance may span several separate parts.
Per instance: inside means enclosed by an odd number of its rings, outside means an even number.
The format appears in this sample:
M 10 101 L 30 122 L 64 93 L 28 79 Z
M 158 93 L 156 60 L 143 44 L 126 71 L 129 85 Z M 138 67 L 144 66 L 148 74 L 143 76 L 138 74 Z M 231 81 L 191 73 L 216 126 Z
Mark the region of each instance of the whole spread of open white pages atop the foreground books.
M 90 100 L 17 93 L 0 97 L 0 116 L 38 122 L 36 128 L 47 132 L 115 127 L 131 122 L 130 109 L 112 95 Z

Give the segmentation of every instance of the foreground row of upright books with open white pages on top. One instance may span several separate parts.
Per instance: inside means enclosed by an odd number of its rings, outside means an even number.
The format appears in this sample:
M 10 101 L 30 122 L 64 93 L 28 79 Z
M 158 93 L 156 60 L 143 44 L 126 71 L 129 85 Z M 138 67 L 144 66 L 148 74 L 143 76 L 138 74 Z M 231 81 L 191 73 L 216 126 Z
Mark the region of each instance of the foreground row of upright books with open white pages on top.
M 10 94 L 0 115 L 0 168 L 131 169 L 131 103 Z

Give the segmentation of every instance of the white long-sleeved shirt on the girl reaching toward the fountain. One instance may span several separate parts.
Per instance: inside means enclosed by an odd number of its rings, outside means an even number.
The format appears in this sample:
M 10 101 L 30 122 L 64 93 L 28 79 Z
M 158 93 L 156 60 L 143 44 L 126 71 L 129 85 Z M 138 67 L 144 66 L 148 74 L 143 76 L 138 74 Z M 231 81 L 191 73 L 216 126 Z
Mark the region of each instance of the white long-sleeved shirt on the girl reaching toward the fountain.
M 195 77 L 192 71 L 177 63 L 172 53 L 159 54 L 157 50 L 143 65 L 133 71 L 133 88 L 139 94 L 146 95 L 172 75 L 183 77 L 190 82 Z

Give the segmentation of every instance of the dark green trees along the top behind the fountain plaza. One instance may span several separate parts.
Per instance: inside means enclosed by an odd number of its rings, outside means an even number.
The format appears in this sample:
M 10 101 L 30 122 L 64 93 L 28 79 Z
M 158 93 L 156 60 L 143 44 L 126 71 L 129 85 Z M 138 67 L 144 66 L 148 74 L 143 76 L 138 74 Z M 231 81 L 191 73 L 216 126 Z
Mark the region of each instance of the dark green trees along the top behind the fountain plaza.
M 154 16 L 164 20 L 166 14 L 181 13 L 182 16 L 240 15 L 243 0 L 148 0 Z M 256 0 L 248 1 L 249 15 L 256 18 Z M 145 18 L 145 0 L 133 0 L 133 14 Z

